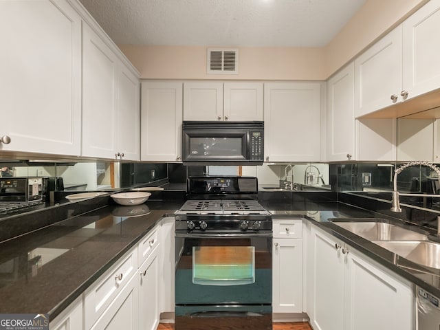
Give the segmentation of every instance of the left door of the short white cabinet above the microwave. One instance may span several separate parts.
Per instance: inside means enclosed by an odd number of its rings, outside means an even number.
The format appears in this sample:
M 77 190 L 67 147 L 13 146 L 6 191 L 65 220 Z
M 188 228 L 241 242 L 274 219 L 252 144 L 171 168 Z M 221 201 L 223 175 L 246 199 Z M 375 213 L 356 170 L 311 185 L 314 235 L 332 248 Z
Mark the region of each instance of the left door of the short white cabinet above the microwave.
M 184 83 L 184 120 L 223 120 L 223 83 Z

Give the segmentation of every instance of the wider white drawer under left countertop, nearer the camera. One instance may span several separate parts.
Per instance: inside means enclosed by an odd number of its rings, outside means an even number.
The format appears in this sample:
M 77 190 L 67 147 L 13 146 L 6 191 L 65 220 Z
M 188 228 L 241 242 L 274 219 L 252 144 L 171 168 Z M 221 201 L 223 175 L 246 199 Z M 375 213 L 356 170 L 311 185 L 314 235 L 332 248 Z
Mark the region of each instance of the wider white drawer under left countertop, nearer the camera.
M 102 312 L 121 292 L 137 270 L 137 247 L 123 256 L 120 261 L 98 281 L 91 285 L 84 294 L 85 329 L 90 329 Z

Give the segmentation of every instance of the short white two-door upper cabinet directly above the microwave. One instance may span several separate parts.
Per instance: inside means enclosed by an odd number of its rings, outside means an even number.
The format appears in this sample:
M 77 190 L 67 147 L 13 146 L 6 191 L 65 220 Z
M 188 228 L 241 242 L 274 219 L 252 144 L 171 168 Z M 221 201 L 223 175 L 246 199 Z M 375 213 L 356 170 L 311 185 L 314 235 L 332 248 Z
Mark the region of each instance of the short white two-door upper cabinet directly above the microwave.
M 184 120 L 263 120 L 263 84 L 184 83 Z

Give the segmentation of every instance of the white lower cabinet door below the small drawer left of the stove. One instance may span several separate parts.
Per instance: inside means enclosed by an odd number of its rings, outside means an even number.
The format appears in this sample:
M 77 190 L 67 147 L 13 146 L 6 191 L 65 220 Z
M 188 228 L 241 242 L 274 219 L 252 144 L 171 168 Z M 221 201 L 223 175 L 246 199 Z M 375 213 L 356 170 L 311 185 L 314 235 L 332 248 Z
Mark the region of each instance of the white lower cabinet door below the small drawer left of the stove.
M 159 248 L 155 248 L 140 266 L 139 325 L 156 330 L 159 325 Z

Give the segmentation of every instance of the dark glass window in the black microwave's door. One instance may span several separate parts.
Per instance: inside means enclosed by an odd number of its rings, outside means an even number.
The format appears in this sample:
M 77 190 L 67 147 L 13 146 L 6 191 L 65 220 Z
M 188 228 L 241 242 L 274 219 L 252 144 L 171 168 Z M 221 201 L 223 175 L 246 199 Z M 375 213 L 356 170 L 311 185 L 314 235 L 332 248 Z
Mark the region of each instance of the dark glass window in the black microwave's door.
M 190 155 L 241 156 L 242 137 L 190 137 Z

